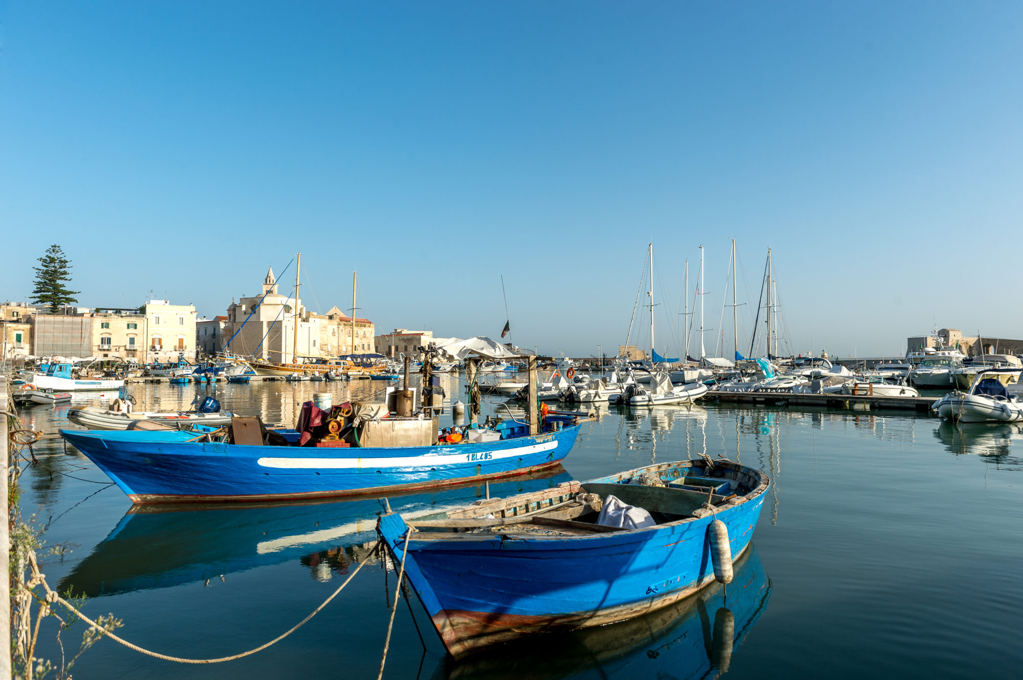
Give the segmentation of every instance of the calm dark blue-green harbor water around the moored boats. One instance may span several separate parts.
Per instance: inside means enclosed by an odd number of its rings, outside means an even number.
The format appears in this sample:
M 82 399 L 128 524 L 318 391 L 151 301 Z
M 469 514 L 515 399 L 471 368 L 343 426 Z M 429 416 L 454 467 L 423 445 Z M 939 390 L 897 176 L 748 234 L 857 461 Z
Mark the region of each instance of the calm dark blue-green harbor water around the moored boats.
M 449 399 L 457 397 L 455 379 L 445 379 Z M 314 391 L 335 392 L 337 403 L 349 389 L 366 396 L 382 387 L 140 384 L 131 392 L 137 408 L 186 407 L 211 394 L 226 409 L 291 425 L 295 402 Z M 68 426 L 66 410 L 24 412 L 37 430 L 54 432 Z M 1018 677 L 1023 428 L 955 427 L 901 412 L 605 405 L 563 470 L 493 484 L 491 493 L 701 451 L 762 469 L 773 482 L 755 549 L 727 589 L 461 663 L 445 659 L 412 595 L 410 608 L 399 603 L 386 677 Z M 368 551 L 381 501 L 132 512 L 103 473 L 60 440 L 40 442 L 36 454 L 39 465 L 23 477 L 23 511 L 37 515 L 48 544 L 74 547 L 47 558 L 48 581 L 86 593 L 87 614 L 114 613 L 125 623 L 121 636 L 155 651 L 211 658 L 262 644 L 369 561 L 309 624 L 253 657 L 183 666 L 103 640 L 80 660 L 76 680 L 375 677 L 395 583 L 393 566 Z M 471 486 L 390 501 L 415 511 L 482 492 Z M 735 616 L 733 647 L 715 627 L 722 606 Z M 79 623 L 64 633 L 65 645 L 76 646 L 83 631 Z M 37 655 L 58 658 L 52 630 L 41 639 Z

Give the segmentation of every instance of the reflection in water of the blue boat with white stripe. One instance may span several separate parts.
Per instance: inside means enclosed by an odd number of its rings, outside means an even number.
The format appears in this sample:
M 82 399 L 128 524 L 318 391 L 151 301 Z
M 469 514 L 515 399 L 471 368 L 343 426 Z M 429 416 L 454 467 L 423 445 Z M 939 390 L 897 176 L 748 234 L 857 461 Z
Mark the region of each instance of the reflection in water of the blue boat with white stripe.
M 511 496 L 571 480 L 561 466 L 492 482 L 491 496 Z M 482 484 L 387 495 L 395 512 L 430 515 L 483 497 Z M 382 494 L 355 500 L 288 503 L 134 505 L 92 552 L 60 581 L 88 597 L 167 588 L 257 567 L 301 561 L 327 580 L 361 562 L 387 512 Z

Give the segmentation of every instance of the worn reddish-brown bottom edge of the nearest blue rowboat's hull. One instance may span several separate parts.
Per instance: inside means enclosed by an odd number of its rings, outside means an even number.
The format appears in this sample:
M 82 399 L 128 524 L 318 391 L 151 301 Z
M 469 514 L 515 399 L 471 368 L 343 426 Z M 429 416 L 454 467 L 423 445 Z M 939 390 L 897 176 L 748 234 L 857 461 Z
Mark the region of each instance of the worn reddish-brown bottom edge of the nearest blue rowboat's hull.
M 749 541 L 735 558 L 742 557 L 752 543 L 752 540 Z M 447 647 L 448 653 L 458 660 L 491 644 L 508 642 L 526 635 L 567 632 L 634 619 L 694 595 L 713 581 L 714 574 L 711 573 L 695 585 L 666 593 L 661 597 L 596 612 L 576 612 L 559 616 L 528 616 L 442 610 L 433 616 L 433 622 L 444 641 L 444 646 Z

